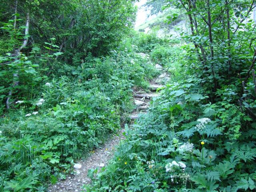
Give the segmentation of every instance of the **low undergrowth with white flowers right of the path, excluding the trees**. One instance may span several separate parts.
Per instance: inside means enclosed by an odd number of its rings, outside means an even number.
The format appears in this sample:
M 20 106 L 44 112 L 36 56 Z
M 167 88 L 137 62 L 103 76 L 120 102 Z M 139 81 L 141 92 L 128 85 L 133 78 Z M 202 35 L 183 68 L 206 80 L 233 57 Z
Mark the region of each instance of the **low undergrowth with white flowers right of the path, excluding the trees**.
M 86 191 L 255 190 L 256 124 L 236 103 L 239 82 L 221 86 L 212 102 L 188 47 L 151 49 L 152 59 L 164 64 L 172 79 L 153 98 L 148 114 L 131 128 L 126 125 L 126 138 L 109 165 L 99 174 L 90 171 Z M 250 84 L 247 96 L 253 93 Z

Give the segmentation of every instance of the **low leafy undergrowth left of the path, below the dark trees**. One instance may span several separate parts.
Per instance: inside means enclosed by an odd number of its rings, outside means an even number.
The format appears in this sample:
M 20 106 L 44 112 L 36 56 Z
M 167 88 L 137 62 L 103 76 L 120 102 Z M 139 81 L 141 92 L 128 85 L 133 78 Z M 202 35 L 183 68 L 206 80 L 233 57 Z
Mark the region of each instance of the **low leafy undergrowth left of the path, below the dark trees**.
M 20 94 L 0 119 L 0 191 L 45 191 L 120 129 L 134 108 L 132 87 L 148 88 L 158 74 L 138 52 L 124 40 L 109 56 L 74 58 L 36 93 Z

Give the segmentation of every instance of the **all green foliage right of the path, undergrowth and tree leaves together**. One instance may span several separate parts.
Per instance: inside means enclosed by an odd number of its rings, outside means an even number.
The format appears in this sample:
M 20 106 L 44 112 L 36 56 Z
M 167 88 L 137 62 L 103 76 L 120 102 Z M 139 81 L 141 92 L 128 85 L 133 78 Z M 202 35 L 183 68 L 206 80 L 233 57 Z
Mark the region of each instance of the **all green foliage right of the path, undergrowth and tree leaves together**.
M 253 36 L 254 24 L 241 24 L 243 30 L 233 34 L 228 72 L 227 41 L 219 36 L 226 37 L 225 26 L 219 20 L 213 24 L 215 55 L 211 58 L 203 2 L 197 1 L 199 8 L 191 11 L 198 22 L 198 34 L 183 34 L 191 44 L 170 46 L 165 40 L 157 44 L 154 38 L 142 35 L 141 47 L 168 69 L 172 79 L 161 95 L 153 98 L 148 114 L 126 130 L 126 139 L 110 164 L 94 176 L 91 185 L 84 186 L 87 191 L 255 190 L 254 56 L 243 42 L 243 36 Z M 213 20 L 220 14 L 226 21 L 227 8 L 220 11 L 223 2 L 213 3 Z M 239 4 L 248 10 L 248 3 Z M 181 5 L 180 1 L 177 4 Z M 230 14 L 237 4 L 230 3 Z M 231 20 L 235 23 L 236 18 Z M 207 55 L 205 62 L 200 60 L 200 46 Z M 240 58 L 238 52 L 243 53 Z M 246 83 L 242 85 L 242 81 Z

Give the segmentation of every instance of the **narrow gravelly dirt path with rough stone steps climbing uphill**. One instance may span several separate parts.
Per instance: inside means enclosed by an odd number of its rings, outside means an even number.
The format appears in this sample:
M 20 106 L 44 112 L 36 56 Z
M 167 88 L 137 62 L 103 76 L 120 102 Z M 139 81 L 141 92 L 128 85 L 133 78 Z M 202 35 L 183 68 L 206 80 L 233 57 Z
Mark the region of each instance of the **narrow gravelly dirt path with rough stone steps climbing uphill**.
M 161 66 L 156 66 L 158 70 L 162 70 Z M 143 90 L 134 92 L 134 103 L 136 109 L 130 115 L 130 119 L 134 121 L 138 119 L 141 113 L 146 113 L 150 105 L 152 97 L 158 96 L 156 90 L 163 87 L 161 83 L 166 82 L 166 73 L 162 72 L 158 78 L 150 82 L 150 92 L 146 93 Z M 164 78 L 163 78 L 164 77 Z M 168 76 L 167 76 L 168 78 Z M 49 185 L 49 192 L 80 192 L 81 187 L 84 184 L 90 183 L 90 178 L 88 178 L 87 173 L 90 169 L 95 169 L 97 167 L 103 167 L 108 164 L 108 161 L 114 155 L 116 147 L 120 144 L 120 141 L 124 139 L 123 133 L 124 129 L 106 142 L 102 148 L 98 148 L 92 152 L 91 156 L 85 160 L 81 160 L 75 164 L 76 175 L 68 175 L 66 180 L 58 181 L 56 184 Z

